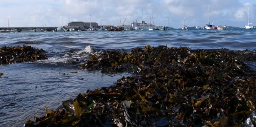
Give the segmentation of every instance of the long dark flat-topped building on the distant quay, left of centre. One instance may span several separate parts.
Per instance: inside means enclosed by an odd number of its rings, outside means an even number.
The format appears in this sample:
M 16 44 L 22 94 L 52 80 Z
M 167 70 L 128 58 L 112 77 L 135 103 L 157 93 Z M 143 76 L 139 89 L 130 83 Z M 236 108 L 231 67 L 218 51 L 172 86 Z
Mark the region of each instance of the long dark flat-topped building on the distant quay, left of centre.
M 67 28 L 90 28 L 91 27 L 98 27 L 98 23 L 96 22 L 69 22 L 66 27 Z

